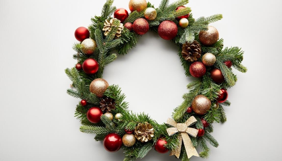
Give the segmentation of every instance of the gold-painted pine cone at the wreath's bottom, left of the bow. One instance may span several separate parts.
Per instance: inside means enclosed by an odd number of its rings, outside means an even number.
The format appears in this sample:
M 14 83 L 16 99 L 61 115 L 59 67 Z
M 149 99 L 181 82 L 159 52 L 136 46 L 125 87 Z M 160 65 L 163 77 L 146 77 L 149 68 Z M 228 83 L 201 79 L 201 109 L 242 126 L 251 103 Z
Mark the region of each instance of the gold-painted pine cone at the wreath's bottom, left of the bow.
M 154 132 L 154 127 L 147 122 L 138 123 L 134 130 L 136 139 L 141 142 L 151 140 L 154 137 Z

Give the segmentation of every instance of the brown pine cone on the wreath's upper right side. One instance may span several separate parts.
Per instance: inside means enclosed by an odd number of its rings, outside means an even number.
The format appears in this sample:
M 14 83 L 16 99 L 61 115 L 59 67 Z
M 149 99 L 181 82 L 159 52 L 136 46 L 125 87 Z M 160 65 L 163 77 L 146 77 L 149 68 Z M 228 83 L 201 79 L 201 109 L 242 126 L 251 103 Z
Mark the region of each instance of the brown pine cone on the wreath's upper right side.
M 194 40 L 192 43 L 184 43 L 182 45 L 182 57 L 187 61 L 196 61 L 201 57 L 201 45 Z

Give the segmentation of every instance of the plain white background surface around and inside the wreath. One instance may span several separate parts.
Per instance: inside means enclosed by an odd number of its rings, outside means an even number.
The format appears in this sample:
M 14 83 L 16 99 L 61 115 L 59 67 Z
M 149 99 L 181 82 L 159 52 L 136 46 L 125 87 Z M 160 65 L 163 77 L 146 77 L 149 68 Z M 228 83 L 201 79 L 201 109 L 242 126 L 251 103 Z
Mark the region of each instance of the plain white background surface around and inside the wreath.
M 66 94 L 64 69 L 76 63 L 74 30 L 91 24 L 105 0 L 0 1 L 0 160 L 122 160 L 122 150 L 109 153 L 94 135 L 79 131 L 74 117 L 80 101 Z M 128 9 L 129 0 L 116 0 Z M 151 0 L 157 7 L 160 0 Z M 281 160 L 281 1 L 191 0 L 195 18 L 222 13 L 212 24 L 224 45 L 245 51 L 246 74 L 235 71 L 228 90 L 228 121 L 214 125 L 220 146 L 210 161 Z M 134 112 L 159 123 L 188 92 L 177 47 L 148 32 L 128 55 L 105 68 L 109 84 L 119 84 Z M 199 150 L 198 150 L 199 151 Z M 175 160 L 154 150 L 144 160 Z M 193 157 L 198 161 L 201 158 Z

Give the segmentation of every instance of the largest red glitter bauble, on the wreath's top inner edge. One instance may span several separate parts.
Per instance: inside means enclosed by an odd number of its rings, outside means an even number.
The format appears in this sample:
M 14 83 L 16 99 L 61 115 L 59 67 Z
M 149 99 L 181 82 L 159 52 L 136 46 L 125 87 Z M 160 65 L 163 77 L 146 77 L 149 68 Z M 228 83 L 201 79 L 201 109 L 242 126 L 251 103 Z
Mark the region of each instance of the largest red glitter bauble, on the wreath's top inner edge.
M 158 34 L 164 40 L 172 40 L 177 35 L 177 25 L 170 20 L 165 20 L 158 27 Z

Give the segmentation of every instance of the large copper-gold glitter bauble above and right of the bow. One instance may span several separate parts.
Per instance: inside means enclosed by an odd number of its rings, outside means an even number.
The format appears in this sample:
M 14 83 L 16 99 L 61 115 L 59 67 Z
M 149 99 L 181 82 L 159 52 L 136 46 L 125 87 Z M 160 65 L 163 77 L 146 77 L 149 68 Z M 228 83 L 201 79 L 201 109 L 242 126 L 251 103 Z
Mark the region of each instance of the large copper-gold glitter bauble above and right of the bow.
M 204 95 L 198 95 L 194 98 L 191 107 L 196 114 L 203 115 L 211 108 L 211 101 Z

